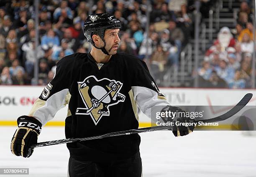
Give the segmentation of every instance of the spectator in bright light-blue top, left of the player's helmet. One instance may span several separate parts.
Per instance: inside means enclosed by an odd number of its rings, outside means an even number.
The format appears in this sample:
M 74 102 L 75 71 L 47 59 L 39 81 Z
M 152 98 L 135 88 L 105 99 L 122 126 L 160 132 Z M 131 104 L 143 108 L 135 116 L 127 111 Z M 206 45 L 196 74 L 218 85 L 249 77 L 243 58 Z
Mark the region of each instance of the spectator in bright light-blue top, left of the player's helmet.
M 44 35 L 41 39 L 42 48 L 60 46 L 59 37 L 55 35 L 54 30 L 49 29 L 47 35 Z

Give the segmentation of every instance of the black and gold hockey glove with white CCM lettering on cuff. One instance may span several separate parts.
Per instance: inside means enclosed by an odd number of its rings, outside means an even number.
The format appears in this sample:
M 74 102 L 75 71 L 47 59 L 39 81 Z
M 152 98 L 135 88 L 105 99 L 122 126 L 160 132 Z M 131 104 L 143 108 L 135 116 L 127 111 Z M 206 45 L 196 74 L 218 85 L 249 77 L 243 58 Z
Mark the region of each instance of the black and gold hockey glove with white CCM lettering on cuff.
M 42 124 L 30 116 L 20 116 L 17 123 L 18 129 L 13 135 L 11 151 L 16 156 L 30 157 L 34 151 L 30 146 L 37 143 Z

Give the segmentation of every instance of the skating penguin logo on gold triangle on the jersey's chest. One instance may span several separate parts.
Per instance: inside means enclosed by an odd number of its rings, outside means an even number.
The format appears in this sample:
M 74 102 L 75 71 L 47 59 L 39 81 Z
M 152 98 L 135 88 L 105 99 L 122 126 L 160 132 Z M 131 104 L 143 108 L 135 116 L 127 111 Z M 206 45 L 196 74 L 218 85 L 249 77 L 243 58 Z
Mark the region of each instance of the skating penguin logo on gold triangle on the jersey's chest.
M 95 125 L 102 116 L 109 116 L 109 106 L 125 101 L 125 96 L 120 94 L 123 83 L 120 81 L 88 76 L 78 83 L 78 90 L 86 108 L 77 108 L 76 114 L 90 115 Z

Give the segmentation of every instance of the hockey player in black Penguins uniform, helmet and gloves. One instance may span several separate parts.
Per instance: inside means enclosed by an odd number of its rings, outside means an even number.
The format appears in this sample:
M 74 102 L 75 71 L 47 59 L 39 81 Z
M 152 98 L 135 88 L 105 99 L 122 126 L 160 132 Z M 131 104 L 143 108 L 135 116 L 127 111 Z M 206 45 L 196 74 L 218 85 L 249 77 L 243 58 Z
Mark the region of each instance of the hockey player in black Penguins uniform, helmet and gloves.
M 28 116 L 20 116 L 11 151 L 22 157 L 33 153 L 41 127 L 69 104 L 65 119 L 66 138 L 92 137 L 138 128 L 136 103 L 150 116 L 159 105 L 170 105 L 151 77 L 146 63 L 135 56 L 117 53 L 120 21 L 108 13 L 90 15 L 84 35 L 90 53 L 62 58 L 53 80 L 44 88 Z M 161 110 L 161 109 L 160 109 Z M 160 111 L 159 110 L 159 111 Z M 187 121 L 186 118 L 181 118 Z M 180 128 L 180 127 L 176 127 Z M 188 129 L 175 136 L 189 133 Z M 70 177 L 141 177 L 138 134 L 68 143 Z

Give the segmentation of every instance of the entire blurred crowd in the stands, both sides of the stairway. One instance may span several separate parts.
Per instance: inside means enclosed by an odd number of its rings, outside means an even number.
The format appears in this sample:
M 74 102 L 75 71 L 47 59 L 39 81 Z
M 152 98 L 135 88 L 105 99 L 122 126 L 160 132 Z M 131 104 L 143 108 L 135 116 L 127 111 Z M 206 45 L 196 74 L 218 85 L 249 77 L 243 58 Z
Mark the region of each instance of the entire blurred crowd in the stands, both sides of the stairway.
M 169 74 L 169 68 L 180 68 L 180 54 L 195 38 L 194 0 L 40 0 L 36 46 L 33 3 L 33 0 L 0 1 L 0 84 L 33 84 L 35 48 L 39 85 L 51 81 L 56 63 L 64 56 L 90 52 L 83 25 L 91 13 L 114 14 L 121 21 L 118 52 L 146 61 L 159 86 L 172 86 L 163 83 L 166 81 L 162 78 Z M 200 3 L 202 21 L 208 18 L 216 1 Z M 203 51 L 200 67 L 191 73 L 192 79 L 199 76 L 200 87 L 251 87 L 252 2 L 239 3 L 236 25 L 220 28 L 212 46 Z

